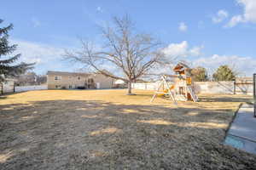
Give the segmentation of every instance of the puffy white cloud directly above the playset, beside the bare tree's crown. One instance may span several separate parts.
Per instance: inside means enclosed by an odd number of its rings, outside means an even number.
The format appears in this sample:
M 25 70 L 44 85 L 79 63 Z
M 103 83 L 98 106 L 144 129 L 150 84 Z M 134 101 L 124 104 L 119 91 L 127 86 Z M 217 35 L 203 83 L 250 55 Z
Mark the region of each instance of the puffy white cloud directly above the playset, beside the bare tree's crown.
M 163 49 L 163 53 L 170 57 L 187 57 L 187 56 L 199 56 L 201 55 L 201 49 L 203 46 L 197 46 L 189 48 L 187 41 L 181 43 L 171 43 Z

